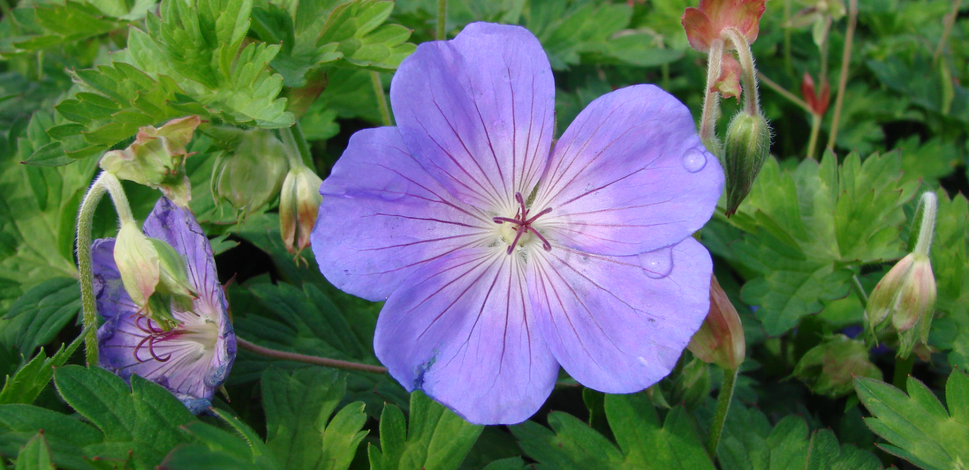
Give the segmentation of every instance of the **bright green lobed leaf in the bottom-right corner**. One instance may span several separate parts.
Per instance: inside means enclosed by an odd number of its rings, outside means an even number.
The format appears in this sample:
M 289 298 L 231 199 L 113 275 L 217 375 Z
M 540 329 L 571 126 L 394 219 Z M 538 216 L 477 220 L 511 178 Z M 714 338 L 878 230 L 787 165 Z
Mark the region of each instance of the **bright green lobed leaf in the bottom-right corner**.
M 946 411 L 934 393 L 909 377 L 906 395 L 889 384 L 858 378 L 855 389 L 871 413 L 865 423 L 889 444 L 886 452 L 926 470 L 959 468 L 969 462 L 969 377 L 954 369 L 946 384 Z

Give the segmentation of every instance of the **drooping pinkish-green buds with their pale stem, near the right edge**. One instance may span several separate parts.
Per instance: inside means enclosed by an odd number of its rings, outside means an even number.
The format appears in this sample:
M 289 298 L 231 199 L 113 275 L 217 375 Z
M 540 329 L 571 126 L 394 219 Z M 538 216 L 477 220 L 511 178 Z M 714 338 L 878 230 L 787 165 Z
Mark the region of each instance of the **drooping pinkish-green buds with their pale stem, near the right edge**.
M 898 356 L 906 358 L 912 348 L 928 340 L 935 312 L 936 286 L 928 250 L 935 228 L 937 197 L 926 192 L 921 201 L 915 249 L 898 261 L 875 286 L 865 309 L 873 333 L 891 327 L 898 332 Z

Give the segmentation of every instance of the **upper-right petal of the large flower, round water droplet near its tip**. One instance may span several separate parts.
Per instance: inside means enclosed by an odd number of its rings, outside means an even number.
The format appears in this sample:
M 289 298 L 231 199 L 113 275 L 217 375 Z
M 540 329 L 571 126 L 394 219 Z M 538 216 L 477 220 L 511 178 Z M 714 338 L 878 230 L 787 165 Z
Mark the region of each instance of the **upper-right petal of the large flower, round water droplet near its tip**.
M 593 101 L 556 143 L 536 209 L 542 230 L 581 251 L 629 256 L 703 227 L 723 188 L 690 111 L 653 85 Z

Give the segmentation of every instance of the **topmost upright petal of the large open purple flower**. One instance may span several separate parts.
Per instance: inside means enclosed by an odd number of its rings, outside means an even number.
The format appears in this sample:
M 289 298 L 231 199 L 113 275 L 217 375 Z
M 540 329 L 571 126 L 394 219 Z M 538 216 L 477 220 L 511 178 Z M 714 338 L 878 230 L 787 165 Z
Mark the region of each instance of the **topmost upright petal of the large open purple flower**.
M 411 154 L 465 203 L 514 202 L 545 169 L 555 86 L 525 28 L 472 23 L 422 44 L 394 74 L 391 104 Z

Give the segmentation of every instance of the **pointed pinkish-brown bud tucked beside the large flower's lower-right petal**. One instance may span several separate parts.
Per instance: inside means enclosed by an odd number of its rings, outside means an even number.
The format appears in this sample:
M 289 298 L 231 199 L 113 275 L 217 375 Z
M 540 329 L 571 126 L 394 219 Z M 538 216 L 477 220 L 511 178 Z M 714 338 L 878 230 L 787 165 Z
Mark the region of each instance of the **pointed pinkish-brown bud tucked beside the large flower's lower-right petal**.
M 743 325 L 716 276 L 710 277 L 710 312 L 687 346 L 694 356 L 735 370 L 746 358 Z

